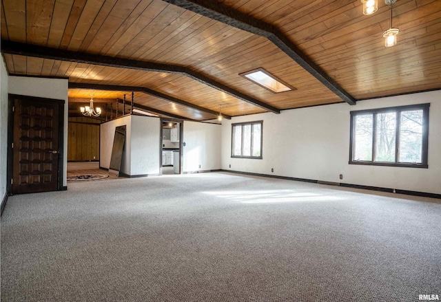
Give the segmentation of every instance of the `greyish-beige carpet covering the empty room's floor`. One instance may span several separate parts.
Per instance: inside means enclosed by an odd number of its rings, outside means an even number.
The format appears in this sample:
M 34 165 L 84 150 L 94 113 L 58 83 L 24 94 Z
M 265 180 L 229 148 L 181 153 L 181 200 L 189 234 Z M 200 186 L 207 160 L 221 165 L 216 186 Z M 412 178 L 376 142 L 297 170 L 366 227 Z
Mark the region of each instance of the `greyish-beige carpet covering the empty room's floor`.
M 439 199 L 229 173 L 70 182 L 1 217 L 1 301 L 418 301 Z

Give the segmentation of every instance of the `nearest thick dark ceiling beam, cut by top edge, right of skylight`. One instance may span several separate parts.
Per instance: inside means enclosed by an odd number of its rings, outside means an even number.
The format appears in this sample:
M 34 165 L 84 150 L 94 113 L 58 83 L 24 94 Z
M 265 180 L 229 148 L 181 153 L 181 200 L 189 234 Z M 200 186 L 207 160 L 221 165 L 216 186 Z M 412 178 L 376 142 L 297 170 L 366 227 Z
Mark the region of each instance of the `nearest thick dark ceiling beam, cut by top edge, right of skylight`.
M 307 70 L 315 78 L 328 87 L 334 94 L 345 100 L 349 105 L 356 105 L 356 98 L 353 98 L 345 89 L 340 87 L 338 83 L 327 73 L 306 56 L 298 47 L 288 39 L 285 34 L 280 32 L 276 26 L 258 20 L 238 10 L 234 10 L 229 6 L 224 6 L 217 1 L 207 0 L 163 0 L 174 6 L 184 8 L 201 14 L 204 17 L 225 23 L 240 30 L 251 32 L 267 38 L 274 43 L 280 50 L 291 57 L 298 65 Z

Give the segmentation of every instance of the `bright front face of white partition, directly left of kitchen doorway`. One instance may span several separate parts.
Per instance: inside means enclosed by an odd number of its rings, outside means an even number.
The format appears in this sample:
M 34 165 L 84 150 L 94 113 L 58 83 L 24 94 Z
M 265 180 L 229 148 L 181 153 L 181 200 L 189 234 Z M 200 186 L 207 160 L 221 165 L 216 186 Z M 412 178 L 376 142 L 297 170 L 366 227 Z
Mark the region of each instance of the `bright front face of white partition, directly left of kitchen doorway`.
M 160 173 L 161 120 L 149 116 L 132 116 L 132 160 L 130 175 Z

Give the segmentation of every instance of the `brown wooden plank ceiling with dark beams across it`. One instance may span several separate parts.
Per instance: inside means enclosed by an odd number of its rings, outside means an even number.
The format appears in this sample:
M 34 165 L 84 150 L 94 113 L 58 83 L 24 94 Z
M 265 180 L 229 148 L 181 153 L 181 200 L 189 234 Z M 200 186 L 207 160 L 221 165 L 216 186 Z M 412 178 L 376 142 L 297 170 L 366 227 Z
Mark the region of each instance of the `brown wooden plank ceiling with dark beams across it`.
M 190 120 L 441 89 L 441 1 L 398 0 L 393 26 L 384 47 L 382 0 L 370 16 L 359 0 L 1 0 L 9 74 L 69 78 L 72 116 L 91 94 L 116 112 L 130 87 Z M 259 67 L 296 90 L 239 76 Z

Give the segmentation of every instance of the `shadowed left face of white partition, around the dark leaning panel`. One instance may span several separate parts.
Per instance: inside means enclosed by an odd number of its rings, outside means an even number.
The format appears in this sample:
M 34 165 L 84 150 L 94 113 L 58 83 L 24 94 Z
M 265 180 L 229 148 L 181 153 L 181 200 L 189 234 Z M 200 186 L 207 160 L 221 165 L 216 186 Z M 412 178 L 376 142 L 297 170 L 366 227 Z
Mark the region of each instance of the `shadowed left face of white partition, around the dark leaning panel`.
M 125 125 L 125 142 L 123 158 L 121 158 L 120 171 L 127 175 L 130 175 L 130 153 L 131 153 L 131 141 L 132 135 L 132 116 L 123 116 L 122 118 L 116 118 L 116 120 L 110 120 L 109 122 L 103 122 L 100 125 L 100 140 L 99 140 L 99 166 L 105 169 L 109 169 L 110 158 L 112 156 L 113 140 L 115 137 L 116 127 Z

